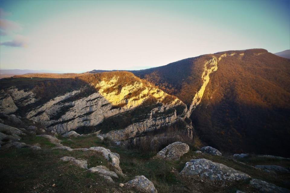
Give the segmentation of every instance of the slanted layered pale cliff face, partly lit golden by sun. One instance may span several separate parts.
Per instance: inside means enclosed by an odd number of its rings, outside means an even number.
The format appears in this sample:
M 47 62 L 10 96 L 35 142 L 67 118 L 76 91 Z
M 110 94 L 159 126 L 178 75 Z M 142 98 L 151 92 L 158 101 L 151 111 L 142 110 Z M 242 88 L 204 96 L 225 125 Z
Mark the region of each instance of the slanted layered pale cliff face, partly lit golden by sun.
M 120 145 L 131 143 L 145 132 L 160 128 L 165 132 L 166 127 L 184 122 L 188 115 L 181 100 L 132 73 L 89 74 L 80 79 L 87 85 L 43 102 L 31 88 L 0 90 L 4 97 L 0 112 L 7 114 L 20 108 L 26 111 L 27 119 L 45 125 L 46 131 L 65 134 L 73 129 L 82 134 L 99 130 L 99 138 L 107 137 Z M 43 89 L 45 92 L 49 88 Z M 112 122 L 117 126 L 106 126 Z M 186 129 L 180 129 L 180 134 L 192 138 L 192 125 L 188 124 Z

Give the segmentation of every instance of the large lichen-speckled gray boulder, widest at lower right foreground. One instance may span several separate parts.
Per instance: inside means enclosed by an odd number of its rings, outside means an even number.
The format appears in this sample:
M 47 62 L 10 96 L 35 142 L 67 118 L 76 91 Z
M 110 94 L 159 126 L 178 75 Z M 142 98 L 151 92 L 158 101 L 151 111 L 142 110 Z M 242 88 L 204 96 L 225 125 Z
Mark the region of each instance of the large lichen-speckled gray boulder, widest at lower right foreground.
M 211 180 L 247 180 L 250 176 L 221 163 L 206 159 L 190 160 L 180 172 L 185 175 L 206 176 Z

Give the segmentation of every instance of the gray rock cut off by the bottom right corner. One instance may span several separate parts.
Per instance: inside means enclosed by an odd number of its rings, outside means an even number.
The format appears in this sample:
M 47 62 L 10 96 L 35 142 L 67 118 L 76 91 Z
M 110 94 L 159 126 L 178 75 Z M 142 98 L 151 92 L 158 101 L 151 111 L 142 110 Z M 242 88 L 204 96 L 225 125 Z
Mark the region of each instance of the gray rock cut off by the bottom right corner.
M 271 183 L 268 183 L 259 179 L 252 179 L 250 181 L 250 185 L 258 189 L 258 191 L 262 193 L 289 193 L 290 192 L 290 190 L 286 188 L 281 188 L 274 184 L 271 184 Z

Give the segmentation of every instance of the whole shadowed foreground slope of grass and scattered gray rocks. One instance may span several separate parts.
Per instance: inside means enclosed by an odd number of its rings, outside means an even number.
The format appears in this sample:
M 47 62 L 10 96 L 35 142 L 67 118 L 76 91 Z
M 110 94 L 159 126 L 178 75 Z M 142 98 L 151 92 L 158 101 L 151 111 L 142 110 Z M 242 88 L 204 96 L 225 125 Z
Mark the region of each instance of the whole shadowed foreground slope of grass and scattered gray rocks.
M 60 136 L 3 123 L 0 144 L 1 192 L 290 192 L 283 157 L 224 157 L 179 141 L 145 153 L 98 134 Z

